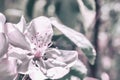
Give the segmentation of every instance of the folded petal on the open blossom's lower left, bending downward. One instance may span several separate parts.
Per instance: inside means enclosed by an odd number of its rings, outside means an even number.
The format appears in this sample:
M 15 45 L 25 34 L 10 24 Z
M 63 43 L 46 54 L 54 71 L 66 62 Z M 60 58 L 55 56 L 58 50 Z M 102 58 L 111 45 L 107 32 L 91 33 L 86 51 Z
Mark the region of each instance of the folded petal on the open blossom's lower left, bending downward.
M 20 48 L 15 48 L 15 47 L 11 47 L 11 49 L 9 49 L 8 51 L 8 55 L 10 57 L 14 57 L 19 60 L 19 65 L 18 65 L 19 73 L 25 74 L 28 71 L 29 62 L 32 58 L 32 56 L 27 56 L 28 53 L 29 51 L 27 50 L 22 50 Z

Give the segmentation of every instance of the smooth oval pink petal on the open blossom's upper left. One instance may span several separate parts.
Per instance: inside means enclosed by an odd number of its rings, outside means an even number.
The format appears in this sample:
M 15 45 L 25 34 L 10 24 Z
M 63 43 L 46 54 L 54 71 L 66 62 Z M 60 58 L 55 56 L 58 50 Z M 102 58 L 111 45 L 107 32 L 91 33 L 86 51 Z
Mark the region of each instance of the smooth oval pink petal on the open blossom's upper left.
M 26 41 L 25 36 L 13 26 L 11 23 L 6 23 L 6 33 L 9 42 L 15 47 L 30 50 L 30 45 Z

